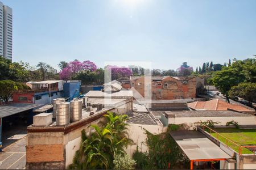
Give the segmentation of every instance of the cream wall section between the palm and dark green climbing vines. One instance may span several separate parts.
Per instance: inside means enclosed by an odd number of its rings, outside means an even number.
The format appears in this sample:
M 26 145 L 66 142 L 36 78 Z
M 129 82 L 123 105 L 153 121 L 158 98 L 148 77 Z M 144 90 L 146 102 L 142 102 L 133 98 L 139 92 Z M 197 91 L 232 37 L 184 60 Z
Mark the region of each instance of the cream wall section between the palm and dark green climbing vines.
M 129 138 L 133 140 L 133 145 L 129 145 L 126 148 L 127 154 L 130 156 L 133 155 L 133 153 L 137 150 L 137 145 L 139 148 L 139 151 L 146 152 L 147 146 L 146 146 L 146 139 L 147 135 L 145 134 L 146 129 L 150 131 L 152 134 L 160 134 L 166 131 L 166 128 L 163 128 L 161 125 L 141 125 L 141 124 L 129 124 L 129 127 L 127 129 L 127 133 L 129 134 Z

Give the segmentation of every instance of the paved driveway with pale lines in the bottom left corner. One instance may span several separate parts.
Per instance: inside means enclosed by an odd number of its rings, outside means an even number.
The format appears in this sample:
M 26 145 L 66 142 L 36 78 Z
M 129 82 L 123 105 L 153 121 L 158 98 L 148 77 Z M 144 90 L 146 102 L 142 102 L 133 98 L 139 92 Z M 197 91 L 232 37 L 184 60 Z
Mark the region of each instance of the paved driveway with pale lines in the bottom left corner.
M 27 137 L 19 139 L 0 152 L 0 169 L 25 169 Z

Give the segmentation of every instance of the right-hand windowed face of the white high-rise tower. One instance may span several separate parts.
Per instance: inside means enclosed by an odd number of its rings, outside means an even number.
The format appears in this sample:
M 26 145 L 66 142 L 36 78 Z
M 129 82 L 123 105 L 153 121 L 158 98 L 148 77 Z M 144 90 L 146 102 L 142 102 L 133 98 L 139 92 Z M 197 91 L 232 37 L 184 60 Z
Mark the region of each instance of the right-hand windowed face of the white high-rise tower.
M 13 57 L 13 9 L 3 6 L 3 57 Z

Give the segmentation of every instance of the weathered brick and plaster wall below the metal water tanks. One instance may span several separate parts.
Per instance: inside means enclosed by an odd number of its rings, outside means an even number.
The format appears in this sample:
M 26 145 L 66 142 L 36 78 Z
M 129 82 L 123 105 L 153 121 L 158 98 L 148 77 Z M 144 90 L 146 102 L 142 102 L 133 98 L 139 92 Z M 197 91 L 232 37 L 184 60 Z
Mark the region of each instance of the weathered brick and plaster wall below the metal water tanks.
M 73 122 L 66 126 L 28 127 L 26 169 L 64 169 L 73 161 L 75 152 L 81 143 L 81 131 L 90 134 L 91 125 L 102 126 L 105 121 L 102 110 L 93 116 Z

